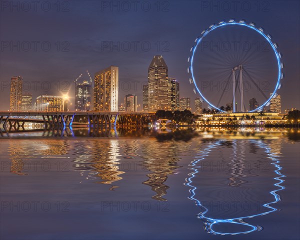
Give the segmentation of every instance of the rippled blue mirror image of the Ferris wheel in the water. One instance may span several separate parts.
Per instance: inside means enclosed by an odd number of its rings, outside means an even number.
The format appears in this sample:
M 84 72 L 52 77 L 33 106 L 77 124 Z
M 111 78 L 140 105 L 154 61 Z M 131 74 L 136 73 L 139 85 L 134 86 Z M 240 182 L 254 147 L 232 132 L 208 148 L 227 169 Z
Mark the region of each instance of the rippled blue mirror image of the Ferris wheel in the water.
M 212 233 L 212 234 L 221 234 L 221 235 L 241 234 L 241 233 L 249 233 L 256 230 L 261 230 L 262 229 L 261 226 L 247 223 L 245 222 L 245 219 L 265 215 L 278 210 L 272 205 L 280 201 L 280 196 L 278 194 L 278 191 L 285 188 L 284 186 L 281 185 L 281 183 L 284 181 L 282 178 L 285 177 L 285 175 L 283 175 L 280 172 L 282 167 L 279 165 L 279 160 L 278 160 L 281 154 L 280 153 L 281 141 L 279 139 L 275 141 L 274 140 L 266 141 L 263 139 L 250 140 L 250 145 L 254 144 L 254 146 L 252 145 L 252 148 L 256 150 L 259 148 L 262 149 L 266 154 L 266 158 L 270 160 L 270 164 L 273 166 L 272 172 L 274 173 L 274 176 L 272 177 L 272 179 L 275 180 L 275 183 L 273 183 L 274 186 L 273 190 L 269 191 L 269 194 L 272 196 L 271 198 L 272 200 L 262 204 L 262 206 L 266 210 L 259 213 L 255 212 L 256 214 L 252 213 L 250 215 L 235 216 L 235 217 L 224 218 L 224 219 L 208 216 L 211 215 L 211 212 L 209 212 L 209 207 L 204 205 L 203 203 L 204 201 L 200 201 L 199 199 L 197 199 L 196 191 L 198 187 L 195 184 L 196 176 L 197 174 L 199 174 L 200 171 L 199 163 L 211 154 L 213 148 L 217 147 L 217 149 L 219 149 L 221 144 L 222 144 L 221 140 L 217 140 L 214 143 L 208 144 L 206 148 L 200 150 L 200 152 L 197 154 L 195 159 L 191 162 L 191 166 L 192 166 L 191 169 L 193 171 L 188 174 L 189 177 L 186 178 L 185 185 L 190 187 L 189 199 L 193 200 L 196 203 L 196 205 L 201 208 L 201 212 L 197 214 L 197 217 L 204 222 L 204 229 L 208 233 Z M 229 185 L 240 186 L 245 182 L 241 178 L 247 176 L 247 174 L 243 171 L 245 167 L 243 162 L 245 159 L 244 158 L 245 147 L 242 146 L 238 150 L 236 142 L 233 141 L 232 152 L 233 152 L 231 154 L 232 159 L 230 160 L 231 161 L 230 177 L 228 178 Z M 251 174 L 250 171 L 247 171 L 247 173 Z M 232 198 L 234 198 L 234 196 L 232 196 Z M 237 211 L 233 212 L 233 214 L 235 215 L 237 215 L 238 213 L 240 212 Z M 221 225 L 224 225 L 225 227 L 220 228 Z M 237 230 L 238 228 L 237 226 L 239 226 L 240 229 Z

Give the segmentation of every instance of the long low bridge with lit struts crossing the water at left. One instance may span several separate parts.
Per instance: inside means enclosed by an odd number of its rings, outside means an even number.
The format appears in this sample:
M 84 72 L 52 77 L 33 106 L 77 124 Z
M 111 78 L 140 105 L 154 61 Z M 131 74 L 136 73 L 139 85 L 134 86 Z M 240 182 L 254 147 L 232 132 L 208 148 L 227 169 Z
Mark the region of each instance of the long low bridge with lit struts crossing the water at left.
M 25 130 L 25 122 L 43 124 L 44 129 L 71 127 L 75 116 L 86 117 L 87 126 L 106 129 L 116 126 L 143 126 L 155 119 L 155 112 L 132 111 L 65 111 L 65 112 L 24 112 L 1 111 L 0 128 Z M 84 123 L 81 123 L 84 124 Z

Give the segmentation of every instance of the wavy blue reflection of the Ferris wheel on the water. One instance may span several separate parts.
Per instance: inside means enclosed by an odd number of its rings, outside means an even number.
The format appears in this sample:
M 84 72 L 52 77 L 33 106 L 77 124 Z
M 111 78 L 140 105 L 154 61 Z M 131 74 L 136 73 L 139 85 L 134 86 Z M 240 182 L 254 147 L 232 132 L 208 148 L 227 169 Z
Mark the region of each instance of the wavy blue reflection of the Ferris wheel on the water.
M 268 210 L 264 210 L 262 212 L 252 213 L 250 215 L 242 215 L 245 212 L 242 211 L 242 209 L 236 210 L 236 208 L 235 208 L 234 212 L 227 212 L 227 213 L 229 213 L 229 215 L 231 215 L 230 218 L 214 218 L 214 217 L 209 216 L 209 215 L 211 215 L 211 212 L 209 212 L 209 211 L 211 210 L 211 208 L 213 208 L 213 205 L 208 204 L 208 206 L 206 207 L 201 202 L 201 200 L 199 200 L 197 198 L 197 196 L 196 196 L 197 186 L 195 186 L 193 183 L 194 178 L 196 178 L 197 174 L 200 174 L 201 165 L 199 165 L 199 162 L 205 160 L 206 158 L 209 158 L 210 152 L 213 151 L 214 148 L 218 148 L 218 146 L 220 146 L 222 144 L 222 141 L 218 140 L 212 144 L 209 144 L 204 149 L 201 149 L 201 151 L 196 155 L 195 159 L 191 162 L 190 165 L 192 166 L 191 169 L 193 171 L 188 174 L 189 177 L 186 179 L 186 183 L 185 183 L 187 186 L 191 187 L 189 189 L 189 192 L 190 192 L 189 199 L 193 200 L 195 202 L 195 204 L 202 209 L 201 212 L 197 214 L 197 217 L 200 218 L 201 220 L 203 220 L 204 229 L 208 233 L 221 234 L 221 235 L 227 235 L 227 234 L 233 235 L 233 234 L 241 234 L 241 233 L 250 233 L 255 230 L 259 231 L 262 229 L 261 226 L 249 224 L 249 223 L 245 222 L 245 219 L 253 218 L 256 216 L 260 216 L 260 215 L 265 215 L 265 214 L 268 214 L 268 213 L 278 210 L 277 208 L 275 208 L 273 206 L 273 204 L 280 201 L 279 191 L 285 188 L 283 185 L 281 185 L 281 183 L 284 181 L 282 178 L 285 177 L 285 175 L 283 175 L 280 172 L 282 167 L 279 165 L 281 140 L 279 139 L 275 143 L 269 143 L 269 144 L 264 143 L 262 140 L 257 140 L 255 142 L 253 142 L 253 140 L 250 140 L 250 141 L 251 141 L 251 143 L 255 144 L 257 147 L 264 149 L 264 151 L 267 153 L 267 158 L 270 159 L 270 164 L 274 165 L 274 169 L 272 169 L 274 172 L 273 179 L 275 179 L 276 181 L 273 184 L 274 190 L 271 190 L 269 192 L 271 195 L 273 195 L 273 200 L 269 201 L 269 202 L 264 201 L 263 207 L 268 208 Z M 247 172 L 244 172 L 244 168 L 245 168 L 244 153 L 245 153 L 245 147 L 246 147 L 246 143 L 244 140 L 242 140 L 241 142 L 237 142 L 236 140 L 233 140 L 231 147 L 232 147 L 232 153 L 231 153 L 232 156 L 230 157 L 231 159 L 229 160 L 230 176 L 228 178 L 229 179 L 228 186 L 240 187 L 240 186 L 242 186 L 243 183 L 247 182 L 245 180 L 242 180 L 242 178 L 247 177 L 247 174 L 253 175 L 251 173 L 251 170 L 253 170 L 254 168 L 249 167 L 249 169 L 247 169 Z M 202 165 L 202 167 L 203 167 L 203 165 Z M 238 191 L 239 196 L 243 196 L 244 200 L 248 200 L 247 203 L 252 201 L 251 204 L 253 204 L 254 203 L 253 197 L 248 194 L 253 194 L 253 193 L 243 191 L 243 189 Z M 237 198 L 236 198 L 236 195 L 234 194 L 234 192 L 230 192 L 229 195 L 231 197 L 231 200 L 232 200 L 232 198 L 235 200 L 234 201 L 235 203 L 240 202 L 240 201 L 237 201 Z M 221 204 L 219 206 L 223 206 L 218 209 L 219 211 L 224 210 L 224 208 L 225 208 L 224 205 Z M 229 208 L 225 208 L 225 210 L 226 209 L 229 209 Z M 232 215 L 232 213 L 234 213 L 234 214 Z M 217 215 L 219 215 L 219 214 L 220 214 L 220 212 L 218 212 Z M 230 227 L 229 224 L 233 224 L 233 226 Z M 234 226 L 234 224 L 235 224 L 235 226 Z M 238 227 L 236 227 L 236 225 L 239 225 L 242 227 L 238 228 Z M 244 226 L 248 227 L 248 229 L 246 229 Z

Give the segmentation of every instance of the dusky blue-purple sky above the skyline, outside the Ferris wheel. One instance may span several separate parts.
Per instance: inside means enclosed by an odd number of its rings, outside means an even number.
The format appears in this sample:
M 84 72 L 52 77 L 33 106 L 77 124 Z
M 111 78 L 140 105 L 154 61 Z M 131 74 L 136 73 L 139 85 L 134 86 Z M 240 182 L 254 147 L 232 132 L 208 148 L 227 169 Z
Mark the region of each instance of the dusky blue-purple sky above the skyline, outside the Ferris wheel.
M 119 67 L 119 103 L 126 94 L 136 94 L 142 104 L 142 85 L 154 55 L 163 56 L 169 77 L 180 83 L 180 97 L 190 97 L 193 106 L 198 95 L 186 70 L 190 47 L 204 28 L 230 18 L 255 22 L 272 36 L 284 63 L 278 90 L 282 112 L 300 108 L 297 0 L 1 0 L 0 7 L 0 110 L 9 108 L 11 76 L 23 77 L 23 91 L 31 92 L 33 100 L 67 93 L 74 101 L 74 80 L 81 73 L 78 81 L 88 80 L 86 70 L 93 77 L 109 65 Z M 218 98 L 221 92 L 210 94 Z

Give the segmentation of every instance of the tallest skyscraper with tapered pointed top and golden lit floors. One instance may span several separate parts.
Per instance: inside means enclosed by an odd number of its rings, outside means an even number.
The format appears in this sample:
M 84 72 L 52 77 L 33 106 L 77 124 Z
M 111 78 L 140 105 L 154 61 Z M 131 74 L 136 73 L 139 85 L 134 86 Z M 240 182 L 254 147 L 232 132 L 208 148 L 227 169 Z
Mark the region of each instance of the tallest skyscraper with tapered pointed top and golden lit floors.
M 148 110 L 170 110 L 170 81 L 161 55 L 155 55 L 148 67 Z

